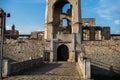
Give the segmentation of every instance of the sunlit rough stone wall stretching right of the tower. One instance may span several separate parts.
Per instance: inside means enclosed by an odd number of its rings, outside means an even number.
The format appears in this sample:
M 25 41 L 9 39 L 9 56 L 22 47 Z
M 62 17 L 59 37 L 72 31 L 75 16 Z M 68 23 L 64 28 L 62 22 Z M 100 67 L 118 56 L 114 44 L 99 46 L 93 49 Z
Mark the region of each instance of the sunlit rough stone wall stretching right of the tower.
M 101 70 L 101 73 L 110 74 L 111 71 L 120 73 L 120 40 L 84 41 L 82 50 L 93 66 L 108 71 L 105 73 Z M 100 73 L 97 70 L 92 72 Z

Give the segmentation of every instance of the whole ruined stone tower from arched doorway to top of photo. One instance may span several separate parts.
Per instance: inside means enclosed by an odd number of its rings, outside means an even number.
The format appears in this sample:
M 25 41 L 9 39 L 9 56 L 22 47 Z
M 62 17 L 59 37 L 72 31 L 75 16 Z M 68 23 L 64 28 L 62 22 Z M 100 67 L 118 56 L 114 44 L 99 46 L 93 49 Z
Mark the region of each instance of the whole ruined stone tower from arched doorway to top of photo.
M 44 38 L 50 42 L 50 61 L 76 60 L 81 46 L 80 3 L 81 0 L 46 0 Z M 66 5 L 69 8 L 64 11 Z

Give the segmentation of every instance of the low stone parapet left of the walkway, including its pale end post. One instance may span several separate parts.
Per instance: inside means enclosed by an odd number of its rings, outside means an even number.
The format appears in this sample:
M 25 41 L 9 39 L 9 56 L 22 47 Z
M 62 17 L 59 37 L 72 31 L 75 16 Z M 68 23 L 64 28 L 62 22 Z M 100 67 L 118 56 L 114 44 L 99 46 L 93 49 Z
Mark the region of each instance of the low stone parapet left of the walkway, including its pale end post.
M 3 61 L 3 77 L 19 73 L 20 71 L 38 67 L 43 63 L 42 58 L 27 60 L 23 62 L 9 63 L 8 60 Z

